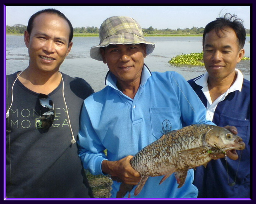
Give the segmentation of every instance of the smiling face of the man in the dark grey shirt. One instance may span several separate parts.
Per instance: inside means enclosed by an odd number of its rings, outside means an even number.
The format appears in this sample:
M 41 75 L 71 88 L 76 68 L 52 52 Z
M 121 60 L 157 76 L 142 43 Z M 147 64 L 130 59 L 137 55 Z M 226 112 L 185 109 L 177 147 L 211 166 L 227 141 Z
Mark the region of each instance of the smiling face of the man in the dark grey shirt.
M 25 31 L 29 49 L 29 67 L 38 71 L 58 71 L 71 50 L 68 22 L 56 14 L 41 13 L 35 17 L 31 34 Z

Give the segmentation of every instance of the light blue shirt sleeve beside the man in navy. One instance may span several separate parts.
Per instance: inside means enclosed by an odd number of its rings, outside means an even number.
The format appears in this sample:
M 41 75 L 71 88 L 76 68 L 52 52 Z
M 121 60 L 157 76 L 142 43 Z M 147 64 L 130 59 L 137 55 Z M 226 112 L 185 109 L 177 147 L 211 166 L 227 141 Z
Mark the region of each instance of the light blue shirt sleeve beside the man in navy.
M 191 124 L 215 125 L 206 119 L 206 108 L 183 76 L 174 72 L 171 77 L 171 83 L 180 101 L 179 107 L 183 127 Z

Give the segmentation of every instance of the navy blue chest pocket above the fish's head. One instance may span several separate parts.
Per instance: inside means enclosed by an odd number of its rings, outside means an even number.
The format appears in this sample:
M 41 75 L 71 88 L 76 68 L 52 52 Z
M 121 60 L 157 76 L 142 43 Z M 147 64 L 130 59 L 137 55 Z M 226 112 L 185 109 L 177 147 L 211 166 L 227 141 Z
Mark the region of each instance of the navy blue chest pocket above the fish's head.
M 245 144 L 248 144 L 251 133 L 250 121 L 248 119 L 243 120 L 221 114 L 218 126 L 224 127 L 226 125 L 235 126 L 238 132 L 237 135 L 243 139 Z

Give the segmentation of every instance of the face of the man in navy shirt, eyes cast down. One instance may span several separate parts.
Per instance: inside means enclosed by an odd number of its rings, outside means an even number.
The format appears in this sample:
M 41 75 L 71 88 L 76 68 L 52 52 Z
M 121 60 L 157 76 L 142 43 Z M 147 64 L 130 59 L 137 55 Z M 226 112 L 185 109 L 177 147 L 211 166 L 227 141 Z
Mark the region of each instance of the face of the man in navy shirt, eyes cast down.
M 205 35 L 203 61 L 209 76 L 214 79 L 234 77 L 236 64 L 244 56 L 244 49 L 239 48 L 234 30 L 224 29 L 219 32 L 221 37 L 214 29 Z

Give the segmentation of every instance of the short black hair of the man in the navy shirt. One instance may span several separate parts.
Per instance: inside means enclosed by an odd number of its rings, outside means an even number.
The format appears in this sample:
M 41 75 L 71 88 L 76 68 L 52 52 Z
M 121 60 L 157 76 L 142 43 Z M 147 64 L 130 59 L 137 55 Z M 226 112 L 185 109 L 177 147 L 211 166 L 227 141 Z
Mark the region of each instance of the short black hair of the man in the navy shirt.
M 246 31 L 243 25 L 244 21 L 242 19 L 237 19 L 237 15 L 231 15 L 226 13 L 224 17 L 216 18 L 215 21 L 208 23 L 203 32 L 203 46 L 205 35 L 215 29 L 216 34 L 220 37 L 219 31 L 225 30 L 225 28 L 230 27 L 236 33 L 238 39 L 238 46 L 240 49 L 244 47 L 246 39 Z

